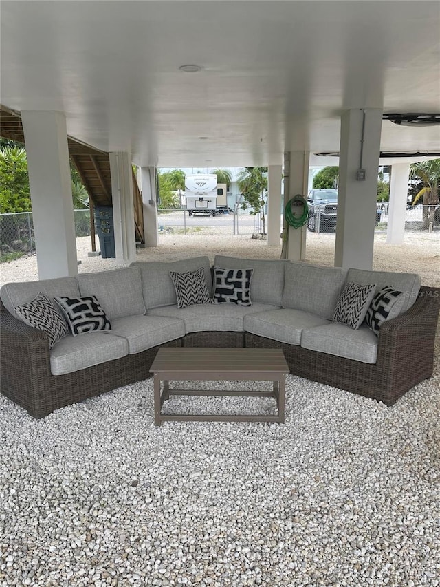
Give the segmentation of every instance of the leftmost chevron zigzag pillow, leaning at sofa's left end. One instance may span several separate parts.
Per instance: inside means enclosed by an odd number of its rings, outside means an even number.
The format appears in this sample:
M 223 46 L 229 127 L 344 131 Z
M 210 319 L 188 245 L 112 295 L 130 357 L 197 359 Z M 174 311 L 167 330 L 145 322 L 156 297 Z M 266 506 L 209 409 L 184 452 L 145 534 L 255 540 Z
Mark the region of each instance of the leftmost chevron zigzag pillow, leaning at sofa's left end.
M 69 332 L 65 319 L 54 303 L 41 292 L 32 301 L 15 306 L 14 310 L 20 314 L 26 324 L 46 332 L 49 337 L 49 348 L 53 348 L 54 344 Z

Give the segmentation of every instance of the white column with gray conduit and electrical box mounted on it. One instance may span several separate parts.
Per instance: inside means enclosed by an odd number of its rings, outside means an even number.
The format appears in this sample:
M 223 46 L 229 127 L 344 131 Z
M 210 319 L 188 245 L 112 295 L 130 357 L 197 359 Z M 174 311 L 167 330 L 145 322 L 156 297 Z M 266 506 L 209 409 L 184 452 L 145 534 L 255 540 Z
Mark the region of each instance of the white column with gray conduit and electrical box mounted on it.
M 335 265 L 371 269 L 382 110 L 348 110 L 341 117 Z M 363 132 L 363 136 L 362 136 Z M 365 179 L 358 180 L 362 167 Z

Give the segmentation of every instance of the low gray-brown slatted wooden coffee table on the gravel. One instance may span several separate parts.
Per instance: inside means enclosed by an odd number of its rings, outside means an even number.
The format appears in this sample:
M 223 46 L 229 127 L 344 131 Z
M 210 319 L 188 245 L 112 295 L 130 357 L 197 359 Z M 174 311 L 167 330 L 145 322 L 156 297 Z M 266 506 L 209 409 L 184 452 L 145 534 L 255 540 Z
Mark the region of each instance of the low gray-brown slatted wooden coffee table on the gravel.
M 284 422 L 285 377 L 289 367 L 281 349 L 162 347 L 150 372 L 154 374 L 154 423 L 166 420 L 209 422 Z M 170 381 L 273 381 L 273 391 L 170 389 Z M 163 383 L 163 384 L 162 384 Z M 162 414 L 172 395 L 273 397 L 278 415 Z

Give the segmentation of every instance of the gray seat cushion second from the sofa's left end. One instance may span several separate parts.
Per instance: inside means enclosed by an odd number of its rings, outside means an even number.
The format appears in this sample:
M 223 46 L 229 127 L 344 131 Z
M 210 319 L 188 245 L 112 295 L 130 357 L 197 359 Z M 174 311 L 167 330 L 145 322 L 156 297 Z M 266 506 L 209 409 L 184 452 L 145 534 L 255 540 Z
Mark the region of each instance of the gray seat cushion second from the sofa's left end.
M 124 337 L 129 353 L 135 354 L 183 337 L 185 325 L 182 320 L 164 316 L 126 316 L 113 320 L 111 332 Z

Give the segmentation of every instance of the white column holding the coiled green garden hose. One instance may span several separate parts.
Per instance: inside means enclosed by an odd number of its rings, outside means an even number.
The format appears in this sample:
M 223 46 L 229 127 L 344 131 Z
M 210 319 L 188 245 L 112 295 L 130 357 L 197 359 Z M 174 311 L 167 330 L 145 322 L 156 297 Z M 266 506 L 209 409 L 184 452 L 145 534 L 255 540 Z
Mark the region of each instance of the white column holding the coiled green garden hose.
M 289 194 L 288 199 L 300 194 L 307 198 L 307 186 L 309 184 L 309 160 L 310 151 L 291 151 L 289 165 Z M 285 194 L 287 203 L 287 195 Z M 307 226 L 294 228 L 289 226 L 289 240 L 287 245 L 287 259 L 291 261 L 303 261 L 305 259 L 305 244 Z

